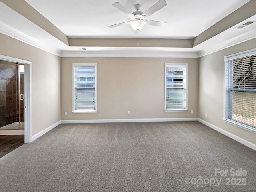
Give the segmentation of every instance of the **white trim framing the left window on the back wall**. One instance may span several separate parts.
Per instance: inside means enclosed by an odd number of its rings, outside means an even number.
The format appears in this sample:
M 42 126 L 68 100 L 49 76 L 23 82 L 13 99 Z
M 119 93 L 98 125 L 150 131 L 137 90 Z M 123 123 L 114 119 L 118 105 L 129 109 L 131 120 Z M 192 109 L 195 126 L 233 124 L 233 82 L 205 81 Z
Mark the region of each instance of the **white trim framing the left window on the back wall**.
M 74 100 L 74 67 L 94 66 L 95 67 L 95 110 L 75 110 Z M 72 113 L 97 113 L 97 63 L 73 63 L 72 65 Z

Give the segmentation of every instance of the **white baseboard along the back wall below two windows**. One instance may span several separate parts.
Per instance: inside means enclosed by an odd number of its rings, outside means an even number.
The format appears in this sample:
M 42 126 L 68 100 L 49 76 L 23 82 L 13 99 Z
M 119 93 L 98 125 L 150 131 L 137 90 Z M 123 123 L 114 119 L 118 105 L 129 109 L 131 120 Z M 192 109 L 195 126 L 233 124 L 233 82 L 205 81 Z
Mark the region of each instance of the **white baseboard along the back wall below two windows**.
M 197 121 L 198 118 L 144 118 L 144 119 L 82 119 L 61 120 L 61 123 L 128 123 L 128 122 L 168 122 L 168 121 Z

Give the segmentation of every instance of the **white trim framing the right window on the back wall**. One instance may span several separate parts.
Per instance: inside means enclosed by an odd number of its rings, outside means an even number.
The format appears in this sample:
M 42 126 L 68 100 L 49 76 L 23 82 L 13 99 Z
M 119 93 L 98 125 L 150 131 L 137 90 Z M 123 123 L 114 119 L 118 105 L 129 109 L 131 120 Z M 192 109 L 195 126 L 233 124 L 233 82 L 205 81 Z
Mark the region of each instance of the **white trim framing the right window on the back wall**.
M 185 109 L 166 109 L 166 67 L 186 67 L 186 106 Z M 166 63 L 164 66 L 164 111 L 165 112 L 186 112 L 188 111 L 188 64 L 187 63 Z

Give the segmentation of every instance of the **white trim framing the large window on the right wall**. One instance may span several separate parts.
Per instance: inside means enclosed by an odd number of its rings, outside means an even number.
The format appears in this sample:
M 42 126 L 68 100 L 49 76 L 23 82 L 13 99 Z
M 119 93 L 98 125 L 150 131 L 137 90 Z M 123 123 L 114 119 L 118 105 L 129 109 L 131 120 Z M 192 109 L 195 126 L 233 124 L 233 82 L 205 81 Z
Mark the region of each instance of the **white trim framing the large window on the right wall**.
M 254 49 L 251 49 L 251 50 L 247 50 L 247 51 L 243 51 L 243 52 L 239 52 L 239 53 L 236 53 L 236 54 L 232 54 L 232 55 L 228 55 L 228 56 L 224 56 L 224 95 L 223 95 L 223 98 L 224 98 L 224 101 L 223 101 L 223 104 L 224 104 L 224 107 L 223 107 L 223 118 L 222 120 L 224 122 L 227 122 L 229 124 L 232 124 L 232 125 L 235 125 L 235 126 L 238 126 L 240 128 L 243 128 L 245 130 L 248 130 L 248 131 L 251 131 L 251 132 L 254 132 L 256 133 L 256 129 L 250 127 L 250 126 L 247 126 L 246 124 L 243 124 L 243 123 L 240 123 L 240 122 L 236 122 L 234 120 L 230 120 L 230 119 L 227 119 L 226 118 L 226 61 L 227 60 L 232 60 L 232 59 L 236 59 L 236 58 L 241 58 L 241 57 L 246 57 L 246 56 L 251 56 L 251 55 L 254 55 L 256 54 L 256 48 Z

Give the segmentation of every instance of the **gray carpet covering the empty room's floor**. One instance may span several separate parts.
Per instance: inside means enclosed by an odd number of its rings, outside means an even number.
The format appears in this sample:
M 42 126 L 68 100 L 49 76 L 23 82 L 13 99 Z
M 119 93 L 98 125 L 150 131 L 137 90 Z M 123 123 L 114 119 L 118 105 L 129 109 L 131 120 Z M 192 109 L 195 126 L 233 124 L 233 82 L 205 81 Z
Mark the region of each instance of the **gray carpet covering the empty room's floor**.
M 1 192 L 256 190 L 256 152 L 200 122 L 61 124 L 2 157 L 0 171 Z

